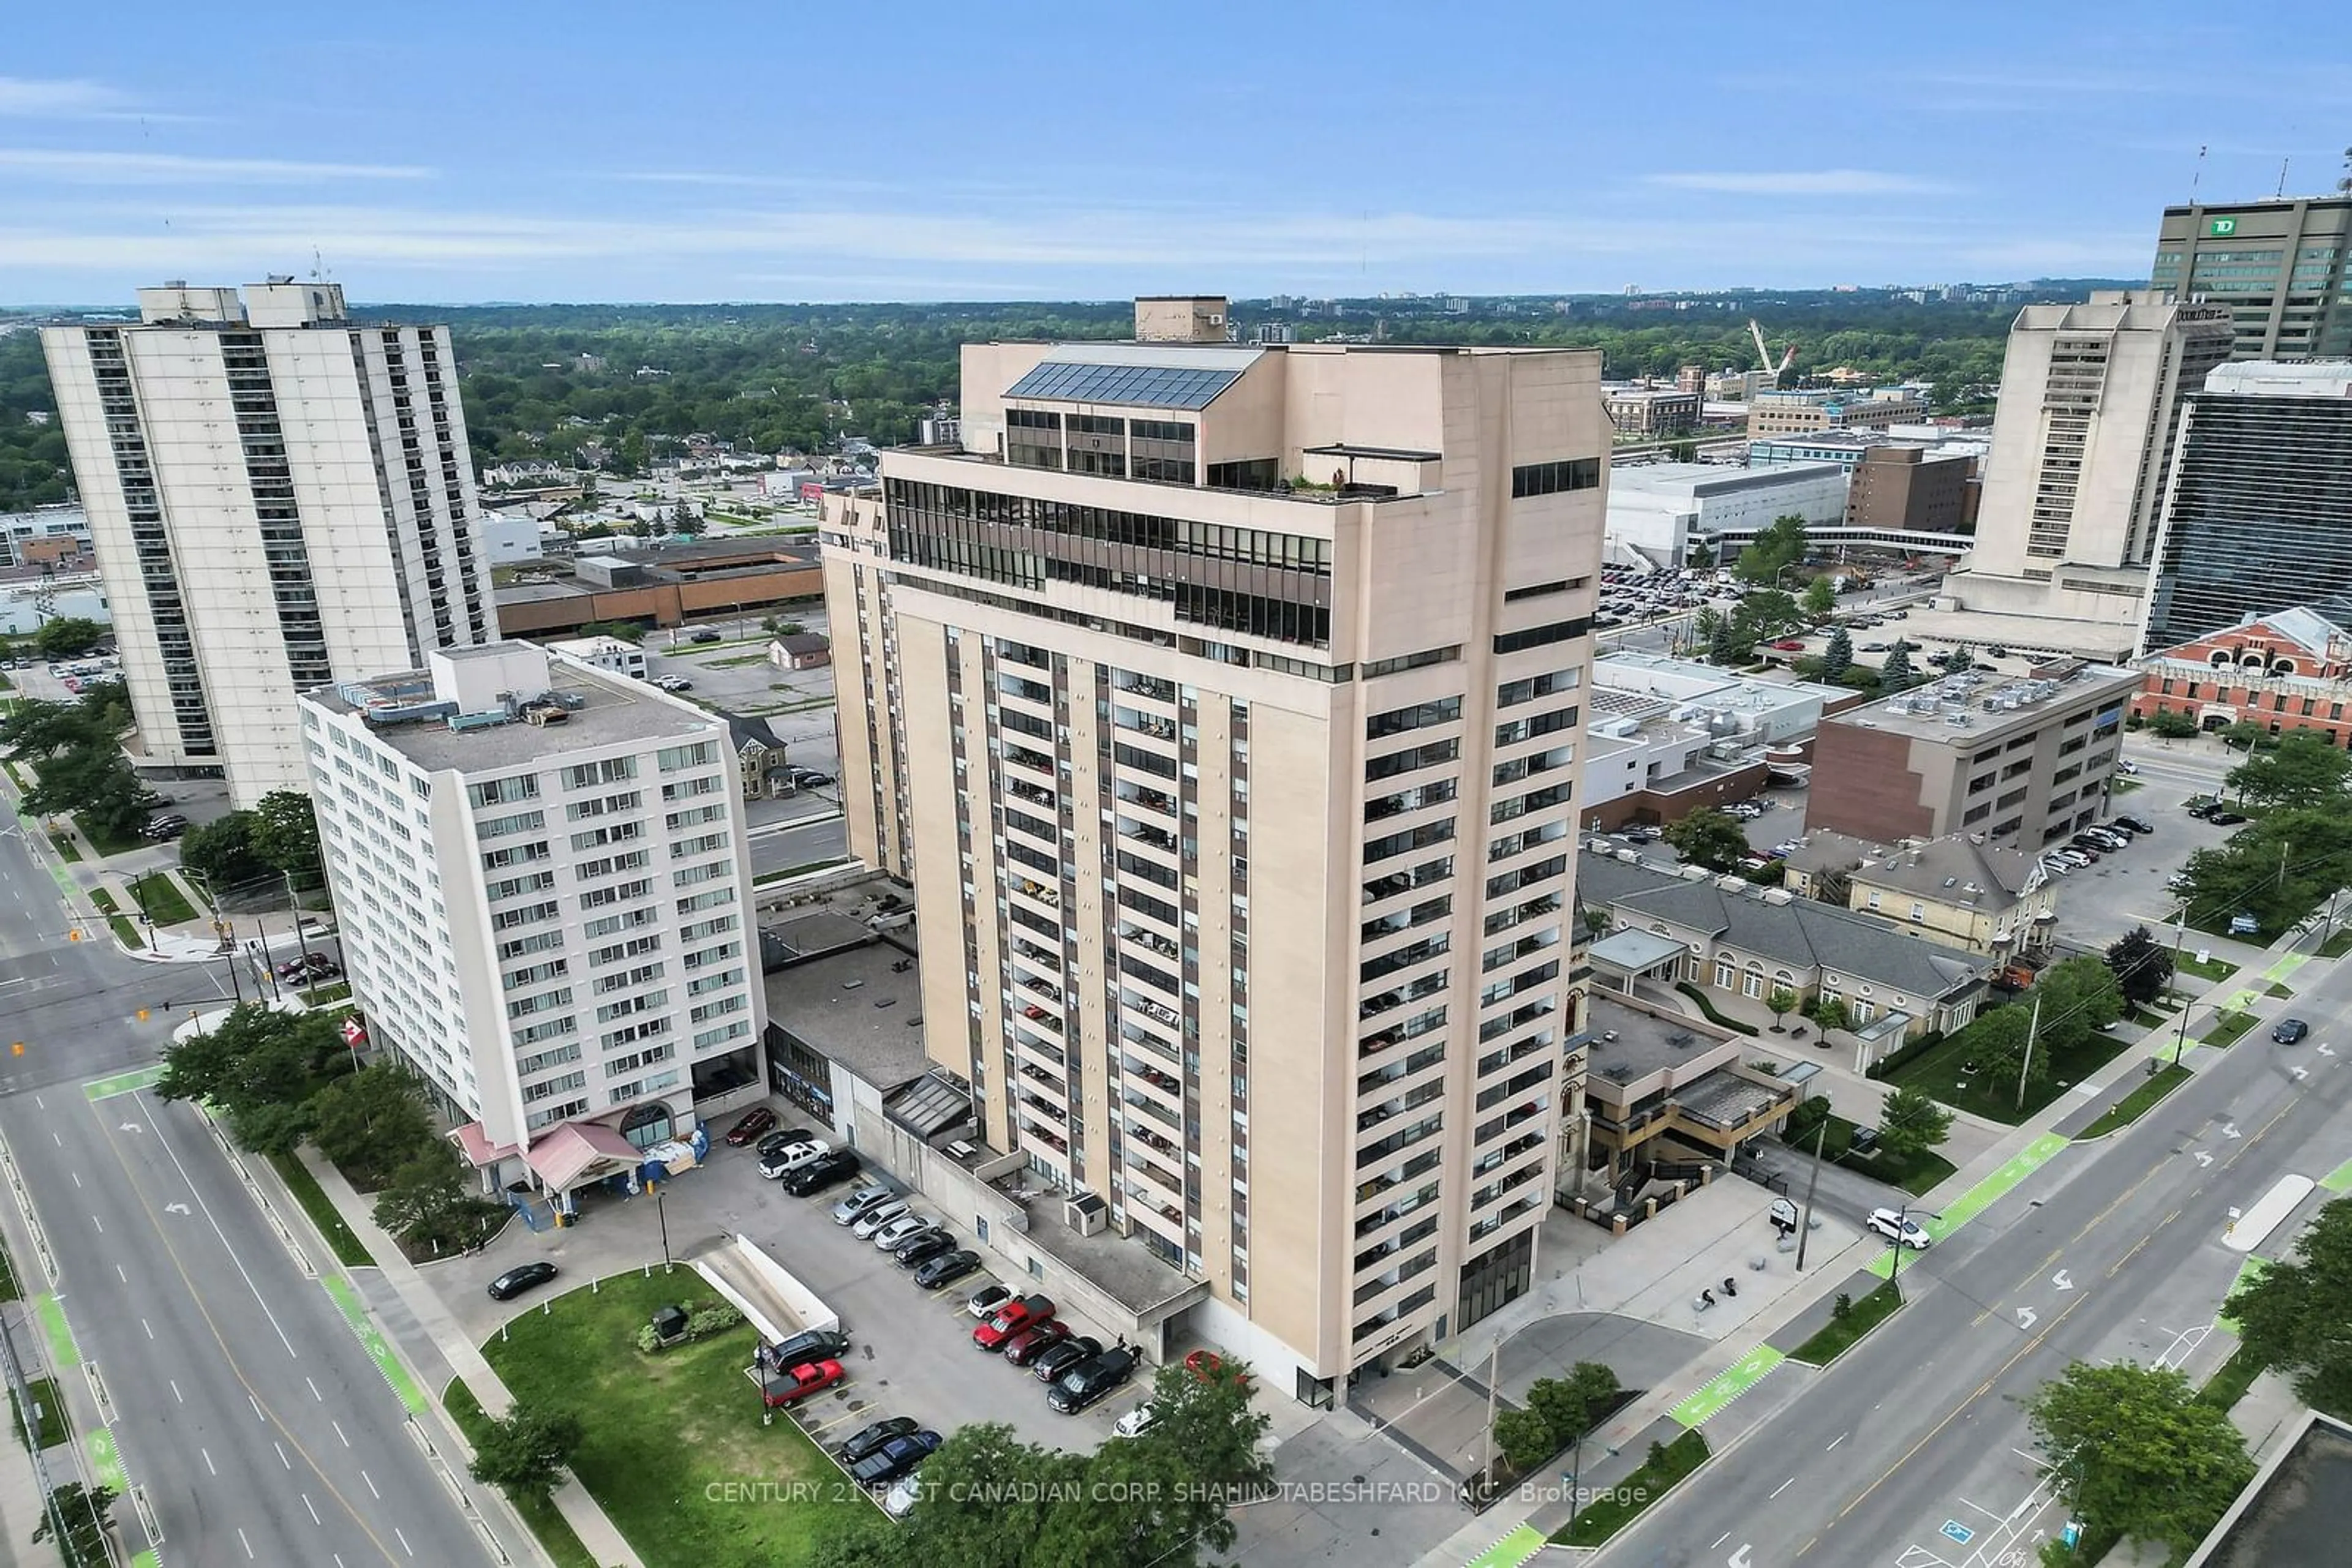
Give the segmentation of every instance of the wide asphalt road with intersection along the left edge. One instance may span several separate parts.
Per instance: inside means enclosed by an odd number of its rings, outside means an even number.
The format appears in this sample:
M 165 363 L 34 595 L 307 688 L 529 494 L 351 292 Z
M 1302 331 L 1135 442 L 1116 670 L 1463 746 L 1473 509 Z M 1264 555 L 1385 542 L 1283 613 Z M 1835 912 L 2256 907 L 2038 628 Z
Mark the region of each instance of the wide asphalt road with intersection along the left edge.
M 68 940 L 47 853 L 0 835 L 0 1138 L 165 1559 L 487 1561 L 383 1373 L 195 1112 L 139 1091 L 85 1093 L 89 1079 L 153 1065 L 186 1009 L 219 1006 L 226 978 L 129 959 L 103 926 Z M 24 1251 L 19 1279 L 40 1286 Z M 45 1359 L 87 1436 L 92 1385 Z M 127 1540 L 139 1535 L 127 1505 L 115 1516 Z

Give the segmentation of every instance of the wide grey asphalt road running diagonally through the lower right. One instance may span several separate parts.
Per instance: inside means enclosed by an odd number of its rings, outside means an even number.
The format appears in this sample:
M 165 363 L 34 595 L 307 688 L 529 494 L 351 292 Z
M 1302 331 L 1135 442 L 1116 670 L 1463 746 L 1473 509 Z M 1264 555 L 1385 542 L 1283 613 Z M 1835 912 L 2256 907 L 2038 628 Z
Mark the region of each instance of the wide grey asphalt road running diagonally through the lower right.
M 2317 1180 L 2352 1157 L 2347 1001 L 2352 969 L 2338 966 L 2293 1004 L 2265 1004 L 2265 1018 L 2291 1009 L 2319 1020 L 2314 1037 L 2274 1046 L 2265 1027 L 2206 1053 L 2204 1070 L 2138 1126 L 2063 1150 L 1943 1244 L 1905 1255 L 1910 1305 L 1604 1559 L 2034 1561 L 2063 1512 L 2018 1401 L 2077 1359 L 2194 1359 L 2192 1378 L 2211 1371 L 2225 1340 L 2204 1340 L 2244 1260 L 2223 1244 L 2230 1220 L 2279 1175 Z M 2293 1225 L 2263 1251 L 2281 1251 Z

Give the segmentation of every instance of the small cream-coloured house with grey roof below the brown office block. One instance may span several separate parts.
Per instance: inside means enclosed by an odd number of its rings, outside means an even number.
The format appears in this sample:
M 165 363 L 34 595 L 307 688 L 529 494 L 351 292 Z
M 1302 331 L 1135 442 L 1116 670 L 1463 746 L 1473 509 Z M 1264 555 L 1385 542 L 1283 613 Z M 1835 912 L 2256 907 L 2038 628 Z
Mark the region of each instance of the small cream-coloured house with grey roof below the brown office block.
M 2058 936 L 2058 879 L 2042 858 L 1976 835 L 1886 846 L 1816 830 L 1780 860 L 1780 877 L 1804 898 L 1877 914 L 1994 961 L 2044 957 Z

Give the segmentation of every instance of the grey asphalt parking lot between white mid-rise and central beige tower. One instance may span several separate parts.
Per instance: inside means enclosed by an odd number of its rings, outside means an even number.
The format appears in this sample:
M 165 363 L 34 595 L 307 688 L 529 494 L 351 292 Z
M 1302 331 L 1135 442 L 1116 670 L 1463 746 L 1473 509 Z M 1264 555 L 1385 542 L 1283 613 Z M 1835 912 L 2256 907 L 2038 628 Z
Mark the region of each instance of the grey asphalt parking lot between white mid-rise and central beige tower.
M 783 1126 L 809 1124 L 809 1117 L 788 1105 L 779 1103 L 774 1110 L 786 1119 Z M 720 1126 L 734 1126 L 734 1114 Z M 1047 1408 L 1047 1387 L 1033 1373 L 1007 1366 L 1002 1356 L 983 1354 L 971 1345 L 974 1319 L 964 1309 L 964 1300 L 978 1286 L 990 1284 L 993 1276 L 985 1269 L 943 1291 L 922 1293 L 915 1288 L 913 1274 L 901 1269 L 889 1253 L 833 1222 L 833 1206 L 873 1180 L 884 1180 L 884 1175 L 858 1175 L 814 1197 L 795 1199 L 776 1182 L 760 1178 L 755 1150 L 713 1143 L 710 1157 L 699 1168 L 677 1175 L 663 1190 L 673 1258 L 691 1258 L 741 1232 L 764 1246 L 840 1314 L 842 1331 L 854 1340 L 849 1354 L 842 1356 L 847 1375 L 837 1387 L 814 1394 L 793 1410 L 809 1436 L 830 1446 L 870 1420 L 910 1415 L 941 1436 L 969 1422 L 1000 1420 L 1025 1441 L 1054 1448 L 1094 1448 L 1110 1434 L 1110 1425 L 1150 1392 L 1152 1368 L 1141 1366 L 1124 1389 L 1091 1410 L 1058 1415 Z M 943 1218 L 929 1204 L 917 1201 L 915 1208 Z M 957 1237 L 957 1241 L 971 1244 L 969 1234 Z M 661 1234 L 654 1201 L 602 1192 L 583 1197 L 579 1225 L 539 1234 L 522 1225 L 508 1225 L 489 1251 L 435 1265 L 428 1279 L 449 1302 L 466 1335 L 482 1342 L 496 1335 L 499 1324 L 508 1316 L 539 1309 L 539 1293 L 494 1302 L 485 1291 L 494 1274 L 534 1258 L 546 1258 L 562 1269 L 548 1291 L 569 1291 L 604 1274 L 637 1269 L 647 1258 L 656 1260 L 659 1267 Z M 1004 1284 L 1018 1286 L 1021 1281 L 1007 1279 Z M 1112 1335 L 1094 1324 L 1073 1326 L 1101 1338 L 1103 1345 L 1112 1342 Z

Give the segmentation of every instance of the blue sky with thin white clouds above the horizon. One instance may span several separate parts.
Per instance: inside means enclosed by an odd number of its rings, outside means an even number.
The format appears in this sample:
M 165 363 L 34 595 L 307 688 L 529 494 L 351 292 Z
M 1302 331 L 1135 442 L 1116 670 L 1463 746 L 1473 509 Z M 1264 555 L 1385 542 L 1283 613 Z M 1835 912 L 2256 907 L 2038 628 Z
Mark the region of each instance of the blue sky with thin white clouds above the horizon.
M 2244 200 L 2352 143 L 2305 0 L 14 12 L 7 303 L 313 254 L 428 303 L 2138 275 L 2199 146 Z

